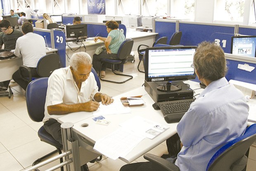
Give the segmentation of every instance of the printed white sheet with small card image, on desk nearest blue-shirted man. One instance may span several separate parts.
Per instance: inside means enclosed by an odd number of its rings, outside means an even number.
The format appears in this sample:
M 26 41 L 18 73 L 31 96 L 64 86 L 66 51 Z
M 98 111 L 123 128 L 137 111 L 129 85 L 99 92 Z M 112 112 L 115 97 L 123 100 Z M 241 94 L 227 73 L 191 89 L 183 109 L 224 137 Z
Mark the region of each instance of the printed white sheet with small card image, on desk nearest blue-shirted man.
M 125 129 L 137 132 L 149 139 L 153 139 L 166 129 L 168 126 L 161 125 L 157 122 L 150 121 L 140 116 L 135 116 L 126 122 L 120 124 Z

